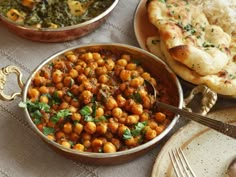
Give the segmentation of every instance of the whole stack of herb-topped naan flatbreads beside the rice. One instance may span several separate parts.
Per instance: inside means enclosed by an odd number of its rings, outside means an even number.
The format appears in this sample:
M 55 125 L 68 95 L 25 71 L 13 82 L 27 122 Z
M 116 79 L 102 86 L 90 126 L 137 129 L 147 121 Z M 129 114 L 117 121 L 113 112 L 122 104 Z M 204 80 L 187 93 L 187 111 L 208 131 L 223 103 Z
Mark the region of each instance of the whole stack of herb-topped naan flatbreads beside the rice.
M 182 79 L 236 96 L 236 40 L 231 35 L 185 0 L 151 0 L 147 12 L 158 29 L 147 39 L 150 52 Z

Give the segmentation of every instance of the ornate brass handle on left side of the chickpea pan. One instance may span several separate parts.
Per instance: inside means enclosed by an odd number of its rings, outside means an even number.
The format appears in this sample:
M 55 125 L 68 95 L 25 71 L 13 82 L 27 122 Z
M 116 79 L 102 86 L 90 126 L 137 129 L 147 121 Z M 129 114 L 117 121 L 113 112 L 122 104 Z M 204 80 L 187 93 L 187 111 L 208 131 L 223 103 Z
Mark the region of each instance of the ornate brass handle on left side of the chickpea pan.
M 14 73 L 17 75 L 17 82 L 19 87 L 21 88 L 21 92 L 13 93 L 12 95 L 6 95 L 4 93 L 4 86 L 7 82 L 7 75 L 10 73 Z M 22 81 L 22 73 L 16 66 L 6 66 L 4 68 L 1 68 L 0 70 L 0 99 L 4 101 L 11 101 L 15 99 L 17 96 L 20 96 L 22 93 L 22 90 L 24 88 L 24 84 Z

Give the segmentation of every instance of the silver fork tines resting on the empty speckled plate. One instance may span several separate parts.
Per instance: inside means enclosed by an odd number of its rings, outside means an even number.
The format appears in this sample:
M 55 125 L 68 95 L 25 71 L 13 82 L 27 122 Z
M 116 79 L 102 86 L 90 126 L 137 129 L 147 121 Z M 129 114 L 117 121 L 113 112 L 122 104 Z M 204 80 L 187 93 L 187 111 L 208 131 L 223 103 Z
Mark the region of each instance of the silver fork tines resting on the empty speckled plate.
M 169 156 L 177 177 L 196 177 L 181 148 L 171 150 Z

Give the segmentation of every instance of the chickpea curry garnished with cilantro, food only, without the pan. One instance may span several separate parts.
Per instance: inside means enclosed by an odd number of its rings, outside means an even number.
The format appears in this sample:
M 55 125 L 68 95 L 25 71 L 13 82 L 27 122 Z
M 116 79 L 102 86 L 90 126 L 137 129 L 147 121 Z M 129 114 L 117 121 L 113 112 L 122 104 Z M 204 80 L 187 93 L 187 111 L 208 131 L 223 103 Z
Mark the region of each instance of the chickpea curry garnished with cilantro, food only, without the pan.
M 152 140 L 173 118 L 154 111 L 145 80 L 157 88 L 158 99 L 171 99 L 131 54 L 70 50 L 33 76 L 20 106 L 47 138 L 66 148 L 123 151 Z

